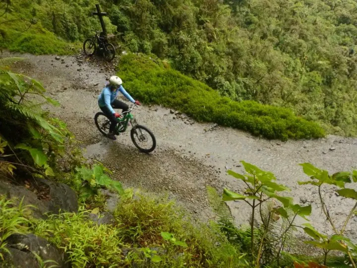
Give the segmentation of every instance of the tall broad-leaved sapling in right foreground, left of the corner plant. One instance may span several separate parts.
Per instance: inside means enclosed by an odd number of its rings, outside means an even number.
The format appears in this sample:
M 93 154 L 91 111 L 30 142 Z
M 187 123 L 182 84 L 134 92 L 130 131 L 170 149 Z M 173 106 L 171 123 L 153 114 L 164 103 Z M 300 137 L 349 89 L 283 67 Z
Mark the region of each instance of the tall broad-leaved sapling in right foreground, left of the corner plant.
M 223 201 L 241 200 L 246 202 L 251 208 L 250 218 L 250 249 L 249 254 L 251 263 L 255 267 L 260 267 L 264 260 L 264 251 L 271 250 L 271 243 L 268 243 L 268 236 L 280 216 L 284 222 L 281 224 L 281 230 L 273 237 L 274 249 L 271 255 L 274 255 L 274 260 L 279 266 L 282 252 L 286 245 L 288 235 L 294 226 L 294 221 L 297 216 L 305 218 L 310 215 L 311 205 L 300 206 L 294 204 L 293 199 L 279 195 L 278 193 L 287 191 L 289 188 L 282 184 L 276 183 L 276 178 L 271 172 L 263 171 L 254 165 L 241 161 L 244 166 L 246 175 L 238 174 L 232 170 L 228 174 L 242 181 L 246 188 L 243 194 L 234 193 L 228 189 L 224 189 Z M 265 206 L 265 207 L 264 207 Z M 256 213 L 259 213 L 258 216 Z M 260 228 L 255 227 L 257 218 L 261 222 Z M 257 235 L 259 234 L 259 235 Z

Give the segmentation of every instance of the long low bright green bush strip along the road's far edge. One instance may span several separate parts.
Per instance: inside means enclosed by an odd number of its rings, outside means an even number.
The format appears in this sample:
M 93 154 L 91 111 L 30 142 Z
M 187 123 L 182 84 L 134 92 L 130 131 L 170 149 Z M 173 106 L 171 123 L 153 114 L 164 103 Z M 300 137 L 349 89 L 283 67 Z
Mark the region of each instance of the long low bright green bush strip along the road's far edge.
M 288 108 L 254 101 L 233 101 L 145 56 L 125 55 L 121 57 L 119 67 L 119 75 L 135 97 L 146 103 L 178 109 L 198 121 L 215 122 L 270 139 L 324 136 L 317 123 L 297 117 Z

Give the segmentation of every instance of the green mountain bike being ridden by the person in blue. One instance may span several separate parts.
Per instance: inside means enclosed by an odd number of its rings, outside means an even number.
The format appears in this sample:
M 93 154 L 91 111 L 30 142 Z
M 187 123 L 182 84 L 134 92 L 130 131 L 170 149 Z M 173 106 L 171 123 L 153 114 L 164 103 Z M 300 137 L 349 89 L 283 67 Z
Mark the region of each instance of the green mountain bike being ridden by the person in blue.
M 131 105 L 128 111 L 121 113 L 121 117 L 117 118 L 118 124 L 115 134 L 119 135 L 120 133 L 124 133 L 128 124 L 130 124 L 132 126 L 130 130 L 130 137 L 134 145 L 142 152 L 152 152 L 156 147 L 156 138 L 147 127 L 137 123 L 136 119 L 131 114 L 134 107 L 137 107 L 137 105 Z M 94 123 L 100 133 L 105 136 L 108 135 L 111 122 L 103 112 L 95 114 Z

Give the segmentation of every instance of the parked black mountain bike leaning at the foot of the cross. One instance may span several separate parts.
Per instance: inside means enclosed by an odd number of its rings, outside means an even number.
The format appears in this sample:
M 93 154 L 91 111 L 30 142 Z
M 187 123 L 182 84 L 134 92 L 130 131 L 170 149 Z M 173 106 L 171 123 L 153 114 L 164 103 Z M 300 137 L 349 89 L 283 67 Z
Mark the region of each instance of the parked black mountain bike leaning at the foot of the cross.
M 92 38 L 87 38 L 83 42 L 83 51 L 87 56 L 92 56 L 97 51 L 97 45 L 100 50 L 103 51 L 104 59 L 107 62 L 111 62 L 115 55 L 115 47 L 108 42 L 108 38 L 106 36 L 101 36 L 100 31 L 93 31 L 95 35 Z

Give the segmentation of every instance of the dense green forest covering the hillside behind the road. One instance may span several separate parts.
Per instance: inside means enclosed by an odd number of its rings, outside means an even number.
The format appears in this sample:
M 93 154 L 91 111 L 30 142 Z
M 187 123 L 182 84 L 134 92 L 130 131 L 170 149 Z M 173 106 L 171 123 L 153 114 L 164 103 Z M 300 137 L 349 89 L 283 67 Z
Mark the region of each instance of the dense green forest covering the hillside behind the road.
M 100 29 L 90 16 L 99 2 L 108 31 L 130 51 L 154 53 L 233 100 L 290 107 L 332 133 L 357 133 L 355 0 L 10 2 L 9 16 L 37 24 L 20 37 L 14 22 L 0 24 L 14 41 L 4 47 L 54 53 L 52 33 L 80 43 Z

